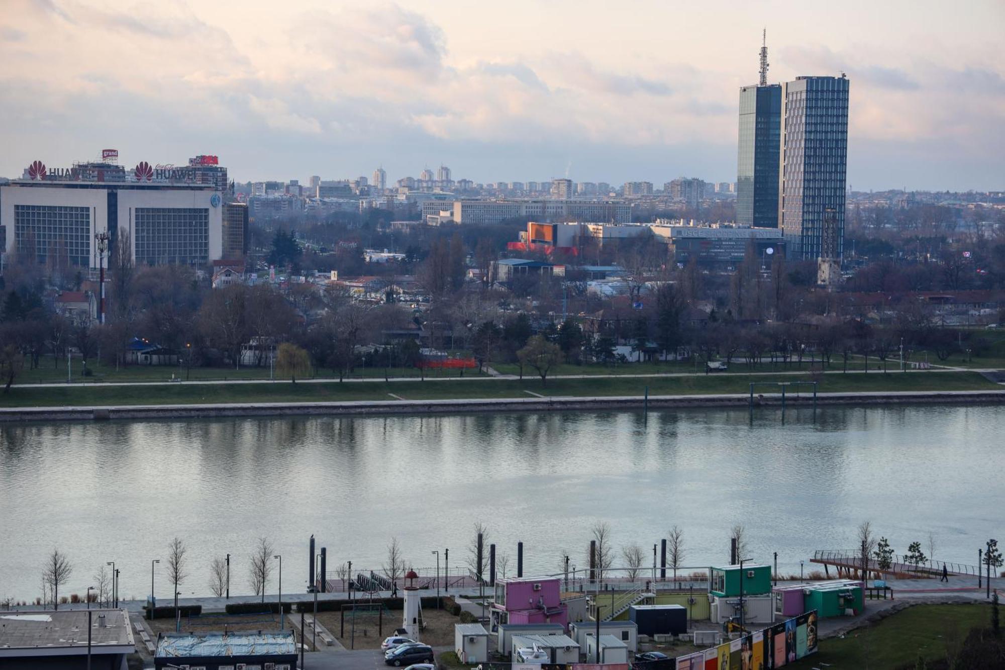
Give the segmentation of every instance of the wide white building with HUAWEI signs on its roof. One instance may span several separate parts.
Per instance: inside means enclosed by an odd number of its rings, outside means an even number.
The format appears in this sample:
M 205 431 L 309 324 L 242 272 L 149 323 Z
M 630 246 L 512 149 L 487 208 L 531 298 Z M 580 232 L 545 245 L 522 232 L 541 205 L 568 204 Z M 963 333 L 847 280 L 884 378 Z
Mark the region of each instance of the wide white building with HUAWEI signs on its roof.
M 118 152 L 103 154 L 71 168 L 34 161 L 21 179 L 0 186 L 7 254 L 97 268 L 95 235 L 106 233 L 110 248 L 128 240 L 138 265 L 204 266 L 224 258 L 227 176 L 215 156 L 178 168 L 141 161 L 128 170 L 117 164 Z M 231 239 L 227 246 L 242 242 Z

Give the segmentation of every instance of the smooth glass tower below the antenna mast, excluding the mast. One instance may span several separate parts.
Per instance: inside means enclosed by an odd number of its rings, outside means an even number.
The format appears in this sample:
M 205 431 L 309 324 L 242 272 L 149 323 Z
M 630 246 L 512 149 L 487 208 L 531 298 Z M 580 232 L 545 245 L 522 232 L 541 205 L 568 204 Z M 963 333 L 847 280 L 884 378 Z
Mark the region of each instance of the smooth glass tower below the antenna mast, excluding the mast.
M 778 170 L 782 136 L 782 87 L 740 90 L 737 223 L 778 227 Z

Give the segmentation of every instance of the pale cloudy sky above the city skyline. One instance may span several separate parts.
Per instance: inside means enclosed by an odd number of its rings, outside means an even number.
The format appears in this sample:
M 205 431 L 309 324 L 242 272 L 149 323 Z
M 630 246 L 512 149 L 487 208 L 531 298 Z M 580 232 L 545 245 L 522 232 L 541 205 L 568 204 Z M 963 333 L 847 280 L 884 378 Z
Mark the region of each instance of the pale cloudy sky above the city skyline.
M 1005 2 L 0 0 L 0 175 L 735 181 L 739 89 L 847 72 L 855 190 L 1005 189 Z

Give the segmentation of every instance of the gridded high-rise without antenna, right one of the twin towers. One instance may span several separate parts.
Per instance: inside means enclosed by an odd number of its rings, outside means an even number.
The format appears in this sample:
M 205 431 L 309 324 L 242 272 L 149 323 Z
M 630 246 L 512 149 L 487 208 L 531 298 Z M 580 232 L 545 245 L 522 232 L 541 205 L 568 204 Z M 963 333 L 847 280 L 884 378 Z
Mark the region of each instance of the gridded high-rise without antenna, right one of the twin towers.
M 817 260 L 825 228 L 844 240 L 848 159 L 848 79 L 799 76 L 782 85 L 779 219 L 789 258 Z M 826 225 L 825 225 L 826 224 Z

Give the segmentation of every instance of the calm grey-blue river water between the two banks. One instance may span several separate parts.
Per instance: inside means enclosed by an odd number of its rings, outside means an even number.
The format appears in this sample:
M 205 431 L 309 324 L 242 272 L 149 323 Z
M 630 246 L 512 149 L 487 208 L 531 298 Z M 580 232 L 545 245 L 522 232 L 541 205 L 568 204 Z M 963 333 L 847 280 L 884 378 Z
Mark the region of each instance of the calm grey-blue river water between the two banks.
M 790 410 L 290 417 L 25 424 L 0 428 L 0 599 L 40 594 L 58 547 L 83 594 L 106 561 L 123 598 L 144 598 L 151 560 L 167 598 L 167 546 L 189 548 L 183 596 L 209 594 L 212 557 L 231 554 L 232 593 L 266 536 L 283 555 L 283 591 L 303 592 L 308 538 L 379 568 L 397 537 L 416 567 L 450 549 L 451 571 L 483 522 L 515 573 L 586 562 L 590 527 L 610 524 L 617 552 L 646 548 L 673 524 L 688 565 L 729 557 L 743 523 L 749 557 L 778 551 L 798 572 L 814 549 L 854 544 L 870 520 L 897 553 L 913 540 L 935 558 L 976 562 L 1005 535 L 995 406 Z M 647 560 L 651 560 L 648 558 Z M 620 561 L 615 561 L 620 562 Z M 442 564 L 442 563 L 441 563 Z M 269 593 L 274 593 L 274 582 Z

